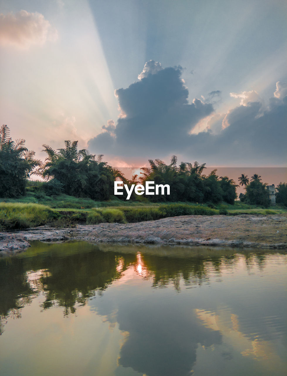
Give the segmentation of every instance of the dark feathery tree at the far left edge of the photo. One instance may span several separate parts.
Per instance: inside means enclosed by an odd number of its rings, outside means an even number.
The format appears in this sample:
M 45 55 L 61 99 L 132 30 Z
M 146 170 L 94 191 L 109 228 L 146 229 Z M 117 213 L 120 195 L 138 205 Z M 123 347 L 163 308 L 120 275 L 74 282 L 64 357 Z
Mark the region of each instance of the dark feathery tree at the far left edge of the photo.
M 27 179 L 41 163 L 24 145 L 24 139 L 12 141 L 7 125 L 0 128 L 0 197 L 24 195 Z

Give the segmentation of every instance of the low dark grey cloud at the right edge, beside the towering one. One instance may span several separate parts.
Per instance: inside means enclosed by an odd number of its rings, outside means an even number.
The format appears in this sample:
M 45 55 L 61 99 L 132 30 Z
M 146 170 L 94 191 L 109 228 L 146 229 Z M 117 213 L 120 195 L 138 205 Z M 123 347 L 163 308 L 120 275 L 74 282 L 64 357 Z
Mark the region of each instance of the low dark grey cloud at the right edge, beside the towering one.
M 271 101 L 261 112 L 261 103 L 252 102 L 229 111 L 229 124 L 218 135 L 211 132 L 192 135 L 190 144 L 200 157 L 213 156 L 216 163 L 283 164 L 286 160 L 287 96 Z M 204 160 L 205 161 L 205 160 Z

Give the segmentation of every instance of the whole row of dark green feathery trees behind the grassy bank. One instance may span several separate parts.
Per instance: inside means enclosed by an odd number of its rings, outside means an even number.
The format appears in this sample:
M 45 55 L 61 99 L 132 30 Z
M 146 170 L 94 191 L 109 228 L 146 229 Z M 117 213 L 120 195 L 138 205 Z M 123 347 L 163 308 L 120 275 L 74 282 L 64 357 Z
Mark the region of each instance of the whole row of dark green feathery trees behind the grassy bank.
M 205 163 L 181 162 L 177 165 L 176 156 L 172 156 L 170 164 L 165 164 L 160 159 L 150 159 L 150 167 L 141 168 L 141 176 L 134 175 L 132 179 L 127 179 L 121 171 L 104 162 L 103 155 L 92 155 L 87 149 L 78 150 L 78 141 L 65 141 L 65 147 L 57 150 L 44 144 L 43 151 L 46 153 L 44 162 L 35 159 L 35 152 L 29 151 L 24 144 L 24 139 L 12 141 L 8 126 L 1 127 L 0 197 L 25 195 L 27 179 L 32 174 L 36 174 L 44 179 L 41 189 L 49 196 L 65 193 L 99 201 L 108 200 L 114 194 L 114 181 L 122 180 L 129 186 L 135 183 L 144 184 L 146 181 L 170 185 L 170 195 L 146 197 L 152 202 L 234 204 L 237 198 L 236 182 L 227 176 L 218 176 L 216 169 L 205 175 Z M 246 193 L 239 195 L 241 201 L 255 205 L 269 205 L 266 184 L 262 183 L 260 178 L 254 174 L 249 182 L 244 174 L 239 177 L 240 185 L 246 188 Z M 287 206 L 286 184 L 280 183 L 276 190 L 277 202 Z M 138 196 L 135 196 L 134 194 L 131 199 L 138 199 Z M 126 199 L 125 195 L 117 197 Z

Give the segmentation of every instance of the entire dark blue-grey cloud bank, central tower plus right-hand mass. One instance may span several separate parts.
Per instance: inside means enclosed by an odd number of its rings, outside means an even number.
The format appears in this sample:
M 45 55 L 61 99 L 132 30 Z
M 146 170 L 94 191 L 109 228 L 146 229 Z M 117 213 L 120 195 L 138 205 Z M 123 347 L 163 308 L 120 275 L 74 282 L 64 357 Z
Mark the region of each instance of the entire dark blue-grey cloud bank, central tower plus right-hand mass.
M 215 123 L 217 134 L 210 129 L 190 134 L 199 121 L 212 114 L 214 102 L 210 99 L 221 92 L 210 92 L 207 102 L 194 99 L 189 104 L 181 74 L 181 67 L 160 67 L 127 89 L 116 90 L 121 110 L 117 125 L 102 127 L 104 132 L 90 139 L 89 149 L 129 162 L 136 157 L 165 159 L 176 154 L 185 161 L 212 165 L 284 163 L 287 96 L 271 98 L 266 111 L 261 102 L 245 100 L 227 114 L 215 114 L 215 119 L 207 121 Z

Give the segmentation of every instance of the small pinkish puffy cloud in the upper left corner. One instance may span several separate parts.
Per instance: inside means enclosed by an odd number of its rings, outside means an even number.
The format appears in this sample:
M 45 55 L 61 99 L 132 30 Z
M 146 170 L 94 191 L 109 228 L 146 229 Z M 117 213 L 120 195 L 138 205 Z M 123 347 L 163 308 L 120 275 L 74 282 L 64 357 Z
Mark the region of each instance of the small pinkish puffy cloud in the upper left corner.
M 20 49 L 31 45 L 44 45 L 47 40 L 57 39 L 57 30 L 41 13 L 20 11 L 16 14 L 0 14 L 0 44 Z

